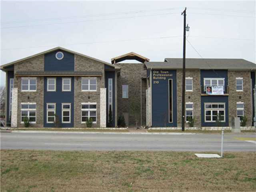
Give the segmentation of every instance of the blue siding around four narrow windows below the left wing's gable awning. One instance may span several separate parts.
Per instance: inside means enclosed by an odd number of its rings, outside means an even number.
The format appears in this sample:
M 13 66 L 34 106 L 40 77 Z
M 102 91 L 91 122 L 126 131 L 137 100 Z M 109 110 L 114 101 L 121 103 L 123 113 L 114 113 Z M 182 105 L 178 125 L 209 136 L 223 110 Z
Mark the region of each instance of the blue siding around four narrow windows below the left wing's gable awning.
M 47 123 L 46 103 L 56 103 L 56 114 L 60 123 L 62 122 L 62 103 L 71 103 L 71 123 L 61 123 L 61 127 L 74 127 L 74 77 L 71 77 L 71 91 L 62 91 L 62 77 L 56 78 L 56 91 L 47 91 L 47 77 L 45 77 L 44 91 L 44 127 L 54 127 L 54 123 Z

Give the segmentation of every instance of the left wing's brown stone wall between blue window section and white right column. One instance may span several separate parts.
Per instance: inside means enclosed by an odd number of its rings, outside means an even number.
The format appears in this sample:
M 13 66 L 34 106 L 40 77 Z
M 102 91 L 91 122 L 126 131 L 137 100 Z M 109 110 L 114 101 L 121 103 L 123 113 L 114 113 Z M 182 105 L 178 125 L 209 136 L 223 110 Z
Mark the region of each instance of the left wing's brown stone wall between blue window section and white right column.
M 86 127 L 81 123 L 81 103 L 97 103 L 97 123 L 93 127 L 100 126 L 101 119 L 101 88 L 105 88 L 105 65 L 93 59 L 75 55 L 75 71 L 101 71 L 102 77 L 97 77 L 97 91 L 82 91 L 81 77 L 74 79 L 74 127 Z M 90 98 L 89 98 L 90 97 Z

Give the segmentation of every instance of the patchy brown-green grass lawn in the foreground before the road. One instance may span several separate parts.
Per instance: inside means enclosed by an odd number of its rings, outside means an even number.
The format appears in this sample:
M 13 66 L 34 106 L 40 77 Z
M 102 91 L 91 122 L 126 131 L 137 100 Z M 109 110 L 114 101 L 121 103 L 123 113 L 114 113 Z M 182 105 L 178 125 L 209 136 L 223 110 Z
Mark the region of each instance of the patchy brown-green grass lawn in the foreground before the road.
M 256 191 L 256 153 L 1 150 L 1 191 Z

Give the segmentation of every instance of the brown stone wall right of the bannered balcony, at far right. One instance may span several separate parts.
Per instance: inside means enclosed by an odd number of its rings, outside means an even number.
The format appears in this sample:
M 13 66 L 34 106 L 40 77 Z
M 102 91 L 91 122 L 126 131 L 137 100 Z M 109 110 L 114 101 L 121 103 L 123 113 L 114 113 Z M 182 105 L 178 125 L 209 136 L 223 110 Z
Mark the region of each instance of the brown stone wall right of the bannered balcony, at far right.
M 243 78 L 243 91 L 237 91 L 235 78 Z M 251 126 L 252 119 L 252 93 L 250 71 L 228 71 L 229 78 L 229 125 L 232 117 L 237 117 L 237 102 L 243 102 L 245 116 L 247 117 L 246 126 Z M 241 97 L 241 99 L 239 99 Z

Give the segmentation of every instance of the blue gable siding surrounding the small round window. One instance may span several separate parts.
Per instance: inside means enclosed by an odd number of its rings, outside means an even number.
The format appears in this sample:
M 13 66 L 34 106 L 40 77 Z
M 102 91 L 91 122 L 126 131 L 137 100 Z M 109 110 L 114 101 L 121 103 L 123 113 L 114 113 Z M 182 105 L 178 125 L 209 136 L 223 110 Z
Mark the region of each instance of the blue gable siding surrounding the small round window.
M 58 60 L 55 54 L 61 51 L 64 54 L 63 59 Z M 74 54 L 66 51 L 57 50 L 45 54 L 45 71 L 74 71 L 75 69 Z

